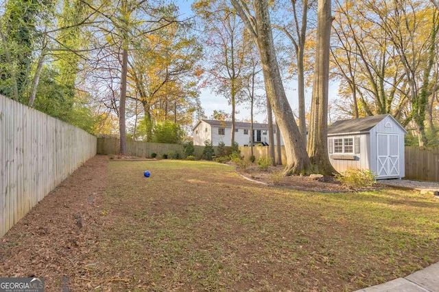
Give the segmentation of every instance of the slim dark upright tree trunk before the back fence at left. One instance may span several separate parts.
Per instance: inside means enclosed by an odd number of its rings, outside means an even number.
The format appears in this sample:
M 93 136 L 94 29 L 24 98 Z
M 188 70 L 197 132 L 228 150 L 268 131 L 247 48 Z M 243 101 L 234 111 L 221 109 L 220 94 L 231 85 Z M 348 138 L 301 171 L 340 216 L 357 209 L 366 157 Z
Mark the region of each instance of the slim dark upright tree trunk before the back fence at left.
M 128 74 L 128 49 L 122 49 L 122 70 L 121 70 L 121 100 L 119 101 L 119 133 L 120 133 L 120 155 L 126 155 L 126 75 Z

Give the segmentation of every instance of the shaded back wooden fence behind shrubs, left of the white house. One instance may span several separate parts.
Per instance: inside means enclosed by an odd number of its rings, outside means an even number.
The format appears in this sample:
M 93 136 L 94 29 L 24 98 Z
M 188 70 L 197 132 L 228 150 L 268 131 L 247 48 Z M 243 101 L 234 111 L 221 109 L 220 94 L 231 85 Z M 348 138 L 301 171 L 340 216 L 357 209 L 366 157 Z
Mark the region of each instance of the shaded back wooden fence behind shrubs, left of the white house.
M 194 146 L 195 157 L 201 159 L 204 146 Z M 150 158 L 152 153 L 156 153 L 157 158 L 161 158 L 163 154 L 170 151 L 176 151 L 180 157 L 184 158 L 184 148 L 181 144 L 165 144 L 141 141 L 126 142 L 127 155 L 135 157 Z M 117 155 L 119 154 L 120 140 L 117 138 L 97 138 L 97 154 Z

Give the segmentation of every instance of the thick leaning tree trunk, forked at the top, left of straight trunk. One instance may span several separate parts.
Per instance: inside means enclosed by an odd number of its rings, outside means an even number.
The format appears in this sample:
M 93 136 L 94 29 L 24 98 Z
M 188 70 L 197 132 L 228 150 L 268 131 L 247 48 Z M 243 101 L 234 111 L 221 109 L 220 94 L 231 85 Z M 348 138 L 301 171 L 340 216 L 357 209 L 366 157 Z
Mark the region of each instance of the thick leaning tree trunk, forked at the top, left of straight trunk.
M 274 41 L 268 13 L 267 0 L 253 1 L 255 17 L 249 15 L 248 7 L 244 0 L 231 0 L 239 16 L 243 19 L 246 27 L 259 49 L 265 91 L 268 100 L 278 121 L 283 135 L 287 154 L 287 166 L 285 174 L 306 174 L 311 172 L 311 164 L 306 148 L 303 146 L 302 136 L 294 120 L 293 111 L 288 103 L 283 88 L 281 72 L 276 60 Z

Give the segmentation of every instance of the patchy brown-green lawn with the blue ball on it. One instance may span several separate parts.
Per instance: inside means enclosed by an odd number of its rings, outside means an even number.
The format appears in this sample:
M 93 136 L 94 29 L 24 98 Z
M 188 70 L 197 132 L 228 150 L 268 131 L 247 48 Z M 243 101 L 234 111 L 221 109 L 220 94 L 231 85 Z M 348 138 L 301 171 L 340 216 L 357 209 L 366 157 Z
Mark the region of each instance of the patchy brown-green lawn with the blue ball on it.
M 150 178 L 143 171 L 150 170 Z M 131 291 L 353 291 L 439 261 L 439 200 L 265 187 L 199 161 L 110 161 L 89 278 Z

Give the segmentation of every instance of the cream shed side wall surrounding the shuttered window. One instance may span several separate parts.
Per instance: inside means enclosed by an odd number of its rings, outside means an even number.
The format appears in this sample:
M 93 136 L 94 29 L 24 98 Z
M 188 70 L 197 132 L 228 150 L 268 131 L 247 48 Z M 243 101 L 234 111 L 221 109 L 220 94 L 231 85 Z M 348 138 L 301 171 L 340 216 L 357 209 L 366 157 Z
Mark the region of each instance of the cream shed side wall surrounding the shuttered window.
M 356 160 L 347 160 L 347 159 L 333 159 L 333 153 L 329 154 L 329 161 L 331 161 L 331 164 L 337 170 L 337 172 L 345 172 L 348 169 L 351 168 L 361 168 L 361 169 L 368 169 L 369 168 L 369 162 L 368 158 L 370 156 L 369 153 L 369 147 L 368 147 L 368 136 L 367 134 L 363 135 L 336 135 L 329 137 L 331 139 L 337 139 L 342 137 L 353 137 L 353 140 L 355 141 L 355 137 L 359 137 L 359 153 L 354 154 L 355 157 L 358 157 Z

